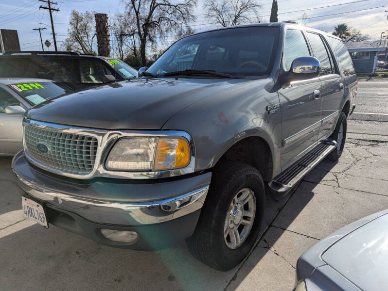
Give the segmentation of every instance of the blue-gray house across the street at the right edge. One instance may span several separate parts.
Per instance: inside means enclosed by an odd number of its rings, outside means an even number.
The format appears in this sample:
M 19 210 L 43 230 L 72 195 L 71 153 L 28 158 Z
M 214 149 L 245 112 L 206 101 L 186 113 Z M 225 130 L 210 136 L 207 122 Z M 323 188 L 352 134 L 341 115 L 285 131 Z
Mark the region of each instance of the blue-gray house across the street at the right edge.
M 383 39 L 381 42 L 380 40 L 348 42 L 345 46 L 352 56 L 355 70 L 371 72 L 373 70 L 376 55 L 382 56 L 381 60 L 384 60 L 385 52 L 387 50 L 387 40 Z

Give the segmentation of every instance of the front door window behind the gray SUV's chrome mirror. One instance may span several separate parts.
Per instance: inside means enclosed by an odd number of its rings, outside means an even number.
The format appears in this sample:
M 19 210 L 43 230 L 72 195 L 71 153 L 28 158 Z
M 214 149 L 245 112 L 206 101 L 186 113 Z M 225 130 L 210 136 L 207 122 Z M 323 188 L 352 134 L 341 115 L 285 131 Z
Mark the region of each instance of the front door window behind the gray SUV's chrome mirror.
M 292 61 L 298 57 L 310 56 L 309 49 L 303 34 L 299 30 L 289 29 L 285 33 L 283 58 L 286 71 L 291 67 Z

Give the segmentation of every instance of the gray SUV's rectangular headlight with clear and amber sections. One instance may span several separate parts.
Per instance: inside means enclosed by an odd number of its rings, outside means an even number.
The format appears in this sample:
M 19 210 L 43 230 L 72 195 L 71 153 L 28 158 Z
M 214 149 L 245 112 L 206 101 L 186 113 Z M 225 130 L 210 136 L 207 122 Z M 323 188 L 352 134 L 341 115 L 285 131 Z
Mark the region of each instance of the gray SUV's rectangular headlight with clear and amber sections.
M 111 149 L 105 166 L 116 171 L 160 171 L 190 163 L 184 137 L 123 137 Z

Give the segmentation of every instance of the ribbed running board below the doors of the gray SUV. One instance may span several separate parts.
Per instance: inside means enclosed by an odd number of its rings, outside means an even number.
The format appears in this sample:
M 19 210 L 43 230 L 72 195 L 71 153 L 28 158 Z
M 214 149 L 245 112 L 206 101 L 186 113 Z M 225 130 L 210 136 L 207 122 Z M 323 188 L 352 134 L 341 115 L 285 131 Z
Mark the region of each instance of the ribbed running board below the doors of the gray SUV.
M 337 146 L 335 140 L 326 139 L 310 150 L 298 162 L 280 173 L 268 183 L 272 194 L 282 197 L 306 176 L 320 161 L 322 161 Z

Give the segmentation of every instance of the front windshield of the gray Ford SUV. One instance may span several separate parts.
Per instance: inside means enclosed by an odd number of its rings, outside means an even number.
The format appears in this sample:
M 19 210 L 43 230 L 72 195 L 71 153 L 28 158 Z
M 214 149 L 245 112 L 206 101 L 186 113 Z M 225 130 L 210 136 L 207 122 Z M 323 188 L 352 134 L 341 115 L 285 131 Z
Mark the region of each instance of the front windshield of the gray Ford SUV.
M 244 27 L 195 34 L 177 41 L 147 70 L 163 76 L 184 70 L 212 70 L 244 78 L 268 74 L 279 29 Z

